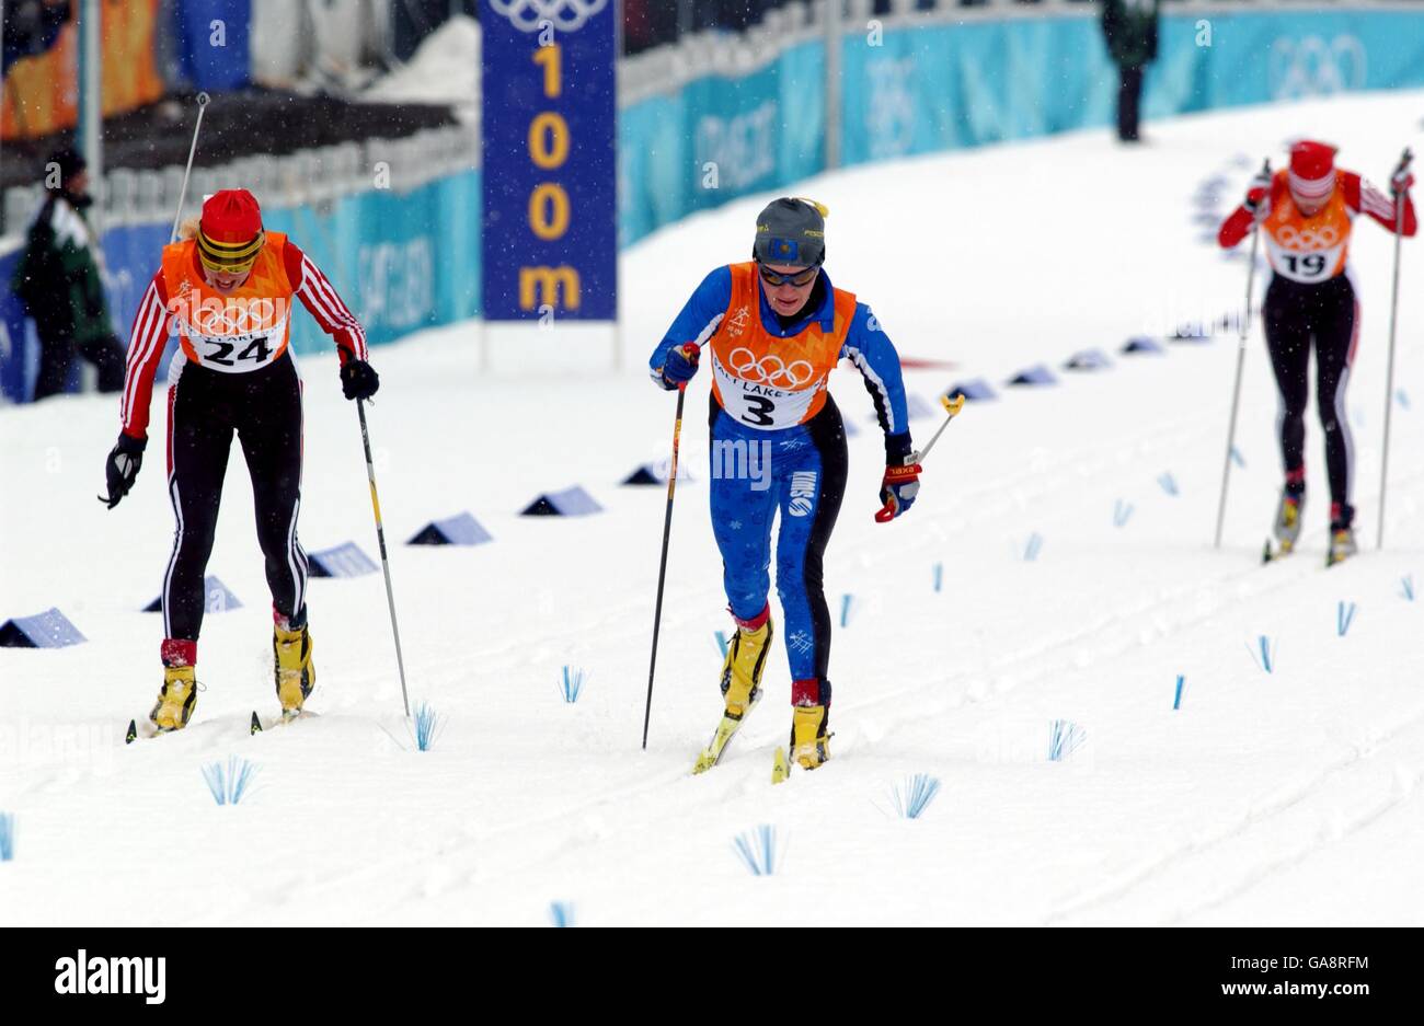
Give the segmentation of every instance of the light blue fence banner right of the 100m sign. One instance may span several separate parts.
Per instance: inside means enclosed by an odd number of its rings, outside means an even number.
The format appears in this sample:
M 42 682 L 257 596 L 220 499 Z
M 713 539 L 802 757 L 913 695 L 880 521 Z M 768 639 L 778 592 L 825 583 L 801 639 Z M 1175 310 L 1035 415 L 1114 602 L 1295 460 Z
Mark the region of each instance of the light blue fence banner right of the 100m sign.
M 1116 94 L 1095 11 L 852 33 L 842 71 L 846 165 L 1108 125 Z M 806 43 L 624 108 L 622 245 L 822 171 L 823 77 L 824 47 Z M 1143 117 L 1421 85 L 1424 10 L 1186 11 L 1162 17 Z

